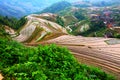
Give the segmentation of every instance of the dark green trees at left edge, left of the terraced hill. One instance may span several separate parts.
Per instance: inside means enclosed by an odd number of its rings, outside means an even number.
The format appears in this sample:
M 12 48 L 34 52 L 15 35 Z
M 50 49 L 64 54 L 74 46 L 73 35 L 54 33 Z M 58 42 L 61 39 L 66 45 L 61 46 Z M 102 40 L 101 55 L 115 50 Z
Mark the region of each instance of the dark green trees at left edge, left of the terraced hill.
M 9 26 L 16 30 L 23 26 L 26 23 L 26 21 L 27 19 L 25 17 L 18 20 L 16 18 L 9 18 L 7 16 L 0 16 L 0 24 Z

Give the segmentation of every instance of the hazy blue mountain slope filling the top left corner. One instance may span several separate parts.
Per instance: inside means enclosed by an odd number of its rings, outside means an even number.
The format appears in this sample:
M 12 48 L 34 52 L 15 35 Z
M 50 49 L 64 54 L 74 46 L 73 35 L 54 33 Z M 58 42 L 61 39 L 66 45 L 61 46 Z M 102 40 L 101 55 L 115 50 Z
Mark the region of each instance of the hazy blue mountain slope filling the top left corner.
M 20 18 L 58 1 L 61 0 L 0 0 L 0 15 Z

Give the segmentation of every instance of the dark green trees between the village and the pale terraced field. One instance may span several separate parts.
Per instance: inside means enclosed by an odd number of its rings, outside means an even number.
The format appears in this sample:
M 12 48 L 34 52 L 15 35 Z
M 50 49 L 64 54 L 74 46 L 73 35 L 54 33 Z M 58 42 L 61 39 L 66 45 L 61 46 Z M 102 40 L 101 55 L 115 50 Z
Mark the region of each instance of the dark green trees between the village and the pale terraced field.
M 86 37 L 107 37 L 120 38 L 120 34 L 112 29 L 106 28 L 103 21 L 89 22 L 90 29 L 85 32 L 77 32 L 76 35 L 82 35 Z M 75 32 L 74 32 L 75 33 Z

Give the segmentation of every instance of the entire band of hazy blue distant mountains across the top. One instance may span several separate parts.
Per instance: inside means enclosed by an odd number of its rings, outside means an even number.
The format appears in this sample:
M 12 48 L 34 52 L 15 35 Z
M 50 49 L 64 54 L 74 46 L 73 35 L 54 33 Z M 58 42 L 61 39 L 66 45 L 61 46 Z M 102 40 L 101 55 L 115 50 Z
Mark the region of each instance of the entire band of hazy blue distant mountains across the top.
M 56 3 L 63 1 L 62 3 Z M 100 5 L 109 4 L 109 3 L 120 3 L 120 0 L 0 0 L 0 15 L 9 16 L 9 17 L 17 17 L 20 18 L 25 15 L 29 15 L 31 13 L 40 12 L 46 7 L 53 4 L 53 6 L 46 8 L 42 12 L 53 12 L 66 8 L 66 6 L 70 6 L 68 3 L 73 2 L 90 2 L 90 3 L 98 3 Z M 102 3 L 101 3 L 102 2 Z M 56 4 L 54 4 L 56 3 Z M 79 6 L 79 5 L 77 5 Z M 80 6 L 84 6 L 84 4 L 80 4 Z M 85 6 L 89 6 L 89 4 L 85 4 Z M 48 11 L 47 11 L 48 10 Z

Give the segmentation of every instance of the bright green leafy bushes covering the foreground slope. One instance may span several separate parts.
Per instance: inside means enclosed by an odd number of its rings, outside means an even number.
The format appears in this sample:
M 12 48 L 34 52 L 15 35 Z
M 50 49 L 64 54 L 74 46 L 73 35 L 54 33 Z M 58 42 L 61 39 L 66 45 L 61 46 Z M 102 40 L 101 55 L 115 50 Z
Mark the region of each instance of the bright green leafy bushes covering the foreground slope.
M 5 39 L 0 39 L 0 71 L 5 80 L 115 80 L 98 68 L 79 64 L 64 47 L 25 47 Z

